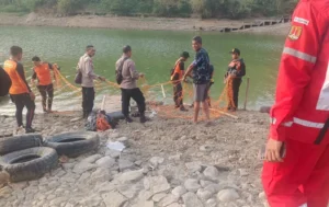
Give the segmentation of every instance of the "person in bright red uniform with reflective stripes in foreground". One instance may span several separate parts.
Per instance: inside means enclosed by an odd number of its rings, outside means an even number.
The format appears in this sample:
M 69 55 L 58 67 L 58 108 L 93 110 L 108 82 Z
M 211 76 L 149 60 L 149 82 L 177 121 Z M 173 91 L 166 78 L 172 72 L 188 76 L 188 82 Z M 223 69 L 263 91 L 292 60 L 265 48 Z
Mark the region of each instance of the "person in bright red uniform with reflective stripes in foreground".
M 328 205 L 328 0 L 299 1 L 283 49 L 271 110 L 262 173 L 271 207 Z

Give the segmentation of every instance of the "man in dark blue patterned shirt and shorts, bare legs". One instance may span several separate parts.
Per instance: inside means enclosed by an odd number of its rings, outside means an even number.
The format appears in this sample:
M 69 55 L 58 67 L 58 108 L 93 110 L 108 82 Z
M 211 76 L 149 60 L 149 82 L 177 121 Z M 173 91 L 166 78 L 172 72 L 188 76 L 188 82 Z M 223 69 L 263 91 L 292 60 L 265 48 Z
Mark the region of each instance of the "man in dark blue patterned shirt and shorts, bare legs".
M 183 80 L 186 80 L 186 77 L 190 76 L 193 70 L 194 123 L 197 123 L 200 103 L 202 103 L 206 120 L 209 122 L 209 106 L 206 101 L 211 82 L 209 56 L 202 47 L 202 38 L 200 36 L 195 36 L 192 39 L 192 47 L 196 51 L 195 59 L 188 68 Z

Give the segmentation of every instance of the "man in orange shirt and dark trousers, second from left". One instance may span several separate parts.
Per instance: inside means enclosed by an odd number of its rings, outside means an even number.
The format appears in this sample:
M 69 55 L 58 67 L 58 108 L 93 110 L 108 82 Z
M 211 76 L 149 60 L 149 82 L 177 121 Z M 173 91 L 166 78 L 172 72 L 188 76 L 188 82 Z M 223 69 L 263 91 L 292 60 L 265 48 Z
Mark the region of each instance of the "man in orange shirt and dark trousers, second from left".
M 34 64 L 34 68 L 33 68 L 33 74 L 31 81 L 34 84 L 35 79 L 38 80 L 37 89 L 39 91 L 39 94 L 42 95 L 43 110 L 44 112 L 52 113 L 53 112 L 52 105 L 54 99 L 54 85 L 53 85 L 50 70 L 53 70 L 53 65 L 47 62 L 42 62 L 39 57 L 37 56 L 33 57 L 32 61 Z

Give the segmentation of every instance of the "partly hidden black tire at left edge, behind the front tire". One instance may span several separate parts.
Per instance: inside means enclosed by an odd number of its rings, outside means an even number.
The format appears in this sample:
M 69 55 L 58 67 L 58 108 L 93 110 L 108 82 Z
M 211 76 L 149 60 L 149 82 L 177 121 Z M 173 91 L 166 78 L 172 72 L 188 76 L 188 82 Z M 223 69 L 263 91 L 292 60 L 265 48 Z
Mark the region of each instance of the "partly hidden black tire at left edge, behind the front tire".
M 23 149 L 41 147 L 43 137 L 38 134 L 29 134 L 0 139 L 0 156 Z

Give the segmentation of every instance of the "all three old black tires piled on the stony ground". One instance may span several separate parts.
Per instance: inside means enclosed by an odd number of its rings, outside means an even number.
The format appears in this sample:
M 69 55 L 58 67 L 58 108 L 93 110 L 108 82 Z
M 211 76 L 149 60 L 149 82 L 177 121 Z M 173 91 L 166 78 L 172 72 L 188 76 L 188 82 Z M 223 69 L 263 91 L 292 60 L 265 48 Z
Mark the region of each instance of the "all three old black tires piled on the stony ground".
M 95 133 L 67 133 L 43 139 L 41 135 L 22 135 L 0 139 L 0 165 L 11 182 L 39 179 L 57 168 L 58 156 L 78 157 L 95 150 Z

